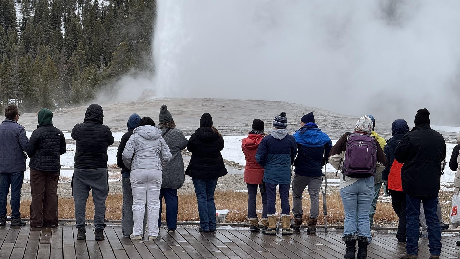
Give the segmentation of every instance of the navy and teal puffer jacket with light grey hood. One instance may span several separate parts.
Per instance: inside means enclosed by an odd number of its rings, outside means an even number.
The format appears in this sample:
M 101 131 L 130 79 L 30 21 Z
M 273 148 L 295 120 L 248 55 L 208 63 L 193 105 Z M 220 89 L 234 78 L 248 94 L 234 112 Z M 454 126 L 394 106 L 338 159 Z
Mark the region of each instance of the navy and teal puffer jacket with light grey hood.
M 264 168 L 264 182 L 272 184 L 291 183 L 291 165 L 297 147 L 287 130 L 273 130 L 260 142 L 256 160 Z

